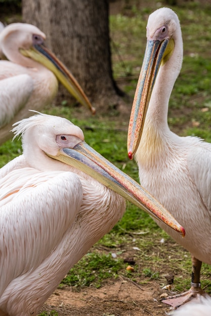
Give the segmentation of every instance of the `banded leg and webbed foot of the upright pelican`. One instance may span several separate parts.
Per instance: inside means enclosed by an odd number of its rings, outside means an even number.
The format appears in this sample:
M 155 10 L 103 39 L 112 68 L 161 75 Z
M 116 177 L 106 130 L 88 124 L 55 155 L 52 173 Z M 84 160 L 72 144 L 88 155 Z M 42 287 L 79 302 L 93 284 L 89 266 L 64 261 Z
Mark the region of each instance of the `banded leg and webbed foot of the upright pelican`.
M 200 271 L 202 262 L 192 256 L 192 274 L 191 274 L 191 288 L 190 290 L 177 294 L 174 296 L 168 296 L 163 298 L 161 301 L 165 304 L 171 305 L 173 307 L 179 307 L 192 299 L 198 299 L 200 295 L 206 295 L 202 290 L 200 284 Z

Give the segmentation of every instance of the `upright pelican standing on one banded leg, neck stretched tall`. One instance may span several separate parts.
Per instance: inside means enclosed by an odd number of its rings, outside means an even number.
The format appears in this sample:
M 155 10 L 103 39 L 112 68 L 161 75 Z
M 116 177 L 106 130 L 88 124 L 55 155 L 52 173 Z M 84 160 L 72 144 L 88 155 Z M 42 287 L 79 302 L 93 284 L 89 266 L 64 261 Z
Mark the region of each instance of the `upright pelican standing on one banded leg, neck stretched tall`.
M 128 155 L 139 167 L 140 183 L 185 228 L 182 239 L 158 225 L 192 256 L 191 288 L 164 302 L 179 306 L 196 293 L 202 262 L 211 264 L 211 144 L 179 137 L 167 124 L 168 101 L 180 73 L 183 40 L 177 14 L 153 12 L 147 23 L 147 45 L 128 131 Z

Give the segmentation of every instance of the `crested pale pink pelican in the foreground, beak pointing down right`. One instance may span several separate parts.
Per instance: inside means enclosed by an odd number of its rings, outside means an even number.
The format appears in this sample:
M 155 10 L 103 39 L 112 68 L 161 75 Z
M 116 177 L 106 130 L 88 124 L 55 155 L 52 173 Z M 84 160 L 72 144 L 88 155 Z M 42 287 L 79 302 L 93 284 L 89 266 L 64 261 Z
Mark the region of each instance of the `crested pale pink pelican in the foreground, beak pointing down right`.
M 68 120 L 38 114 L 13 131 L 22 134 L 23 154 L 0 170 L 1 316 L 36 314 L 70 268 L 121 218 L 125 200 L 119 194 L 185 234 Z

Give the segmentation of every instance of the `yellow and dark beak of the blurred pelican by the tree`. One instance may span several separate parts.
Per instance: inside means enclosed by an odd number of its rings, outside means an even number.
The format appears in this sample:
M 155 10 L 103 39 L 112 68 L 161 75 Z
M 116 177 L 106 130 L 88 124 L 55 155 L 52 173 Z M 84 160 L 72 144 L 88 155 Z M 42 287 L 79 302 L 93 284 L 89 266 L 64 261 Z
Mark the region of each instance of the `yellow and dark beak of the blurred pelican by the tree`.
M 42 44 L 36 44 L 29 49 L 21 48 L 20 52 L 25 57 L 31 58 L 51 70 L 70 94 L 72 94 L 83 106 L 88 107 L 92 114 L 95 114 L 95 108 L 92 107 L 92 104 L 77 80 L 48 48 Z

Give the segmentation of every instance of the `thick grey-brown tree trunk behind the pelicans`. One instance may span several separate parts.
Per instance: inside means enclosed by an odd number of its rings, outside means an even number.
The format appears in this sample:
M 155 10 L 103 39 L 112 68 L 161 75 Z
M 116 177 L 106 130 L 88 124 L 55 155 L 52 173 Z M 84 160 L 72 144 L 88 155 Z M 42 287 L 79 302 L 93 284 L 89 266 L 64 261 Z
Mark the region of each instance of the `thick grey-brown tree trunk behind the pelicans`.
M 47 36 L 96 109 L 119 103 L 112 75 L 108 0 L 22 0 L 23 21 Z M 67 96 L 67 94 L 65 95 Z

